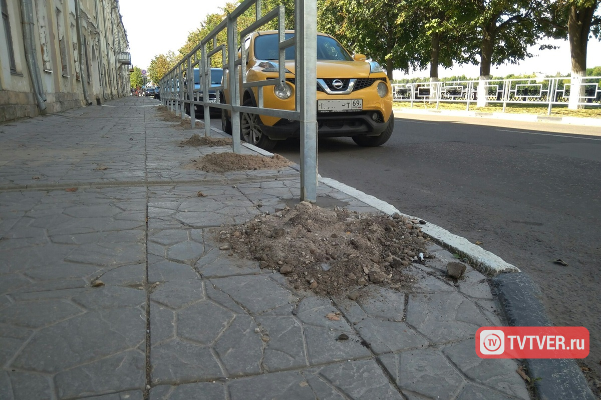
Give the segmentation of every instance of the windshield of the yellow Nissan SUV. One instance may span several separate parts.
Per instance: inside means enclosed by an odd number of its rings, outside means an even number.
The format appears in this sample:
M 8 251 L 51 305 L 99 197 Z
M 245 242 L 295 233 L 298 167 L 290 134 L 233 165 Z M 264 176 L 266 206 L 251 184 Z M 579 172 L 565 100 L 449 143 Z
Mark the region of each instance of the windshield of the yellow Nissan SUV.
M 294 34 L 285 34 L 286 39 L 294 37 Z M 260 60 L 278 59 L 278 34 L 259 35 L 255 39 L 255 58 Z M 285 59 L 294 59 L 294 46 L 285 50 Z M 317 35 L 317 59 L 334 61 L 353 61 L 349 52 L 344 50 L 338 41 L 329 36 Z

